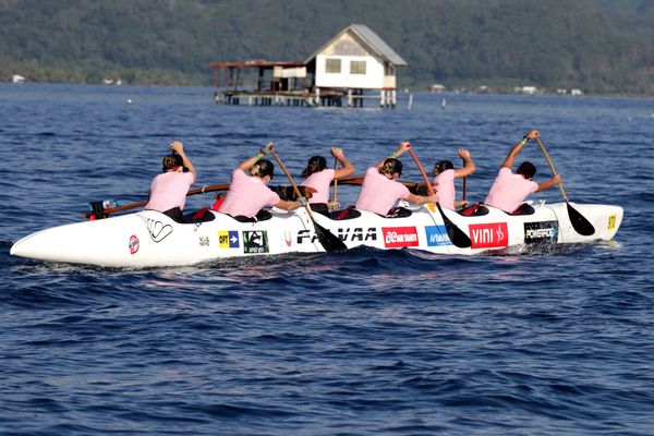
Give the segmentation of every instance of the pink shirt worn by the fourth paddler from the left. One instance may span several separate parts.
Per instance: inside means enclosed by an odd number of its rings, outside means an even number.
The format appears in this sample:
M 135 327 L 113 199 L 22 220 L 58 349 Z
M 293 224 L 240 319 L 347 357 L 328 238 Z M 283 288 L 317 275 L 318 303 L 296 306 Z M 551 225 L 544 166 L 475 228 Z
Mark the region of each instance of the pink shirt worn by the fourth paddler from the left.
M 361 193 L 356 198 L 356 208 L 386 215 L 400 198 L 411 195 L 409 189 L 400 182 L 379 174 L 377 168 L 371 167 L 365 172 Z

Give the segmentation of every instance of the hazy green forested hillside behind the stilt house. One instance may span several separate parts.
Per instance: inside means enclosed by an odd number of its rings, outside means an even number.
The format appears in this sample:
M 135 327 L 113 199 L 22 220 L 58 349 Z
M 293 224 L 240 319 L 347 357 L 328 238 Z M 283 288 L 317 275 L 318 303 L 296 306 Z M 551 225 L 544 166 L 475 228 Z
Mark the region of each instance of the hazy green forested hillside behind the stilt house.
M 400 87 L 654 95 L 649 0 L 0 0 L 0 80 L 208 85 L 211 61 L 304 60 L 350 23 Z

